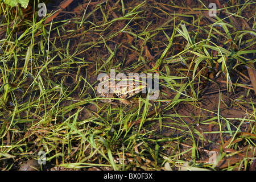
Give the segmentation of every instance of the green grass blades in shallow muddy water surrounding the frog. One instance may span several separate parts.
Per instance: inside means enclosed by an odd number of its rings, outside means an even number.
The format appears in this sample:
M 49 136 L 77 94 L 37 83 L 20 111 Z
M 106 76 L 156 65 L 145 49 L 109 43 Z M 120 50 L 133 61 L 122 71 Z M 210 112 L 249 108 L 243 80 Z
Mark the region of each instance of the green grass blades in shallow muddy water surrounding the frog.
M 85 5 L 44 24 L 33 8 L 1 3 L 2 170 L 40 151 L 43 170 L 251 169 L 253 1 L 232 1 L 216 18 L 201 1 L 191 11 L 169 1 Z M 158 73 L 159 98 L 102 102 L 94 86 L 112 68 Z

